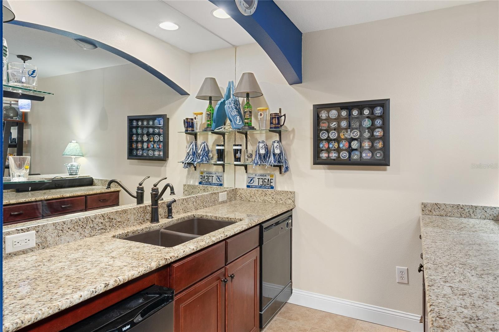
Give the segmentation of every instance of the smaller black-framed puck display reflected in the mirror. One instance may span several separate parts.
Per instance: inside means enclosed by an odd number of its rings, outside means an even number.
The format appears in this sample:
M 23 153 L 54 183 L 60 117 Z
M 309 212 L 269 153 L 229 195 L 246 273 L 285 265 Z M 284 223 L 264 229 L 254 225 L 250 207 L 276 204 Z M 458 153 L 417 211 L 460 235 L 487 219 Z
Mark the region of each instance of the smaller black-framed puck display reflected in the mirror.
M 169 131 L 166 114 L 128 116 L 127 126 L 127 159 L 168 159 Z

